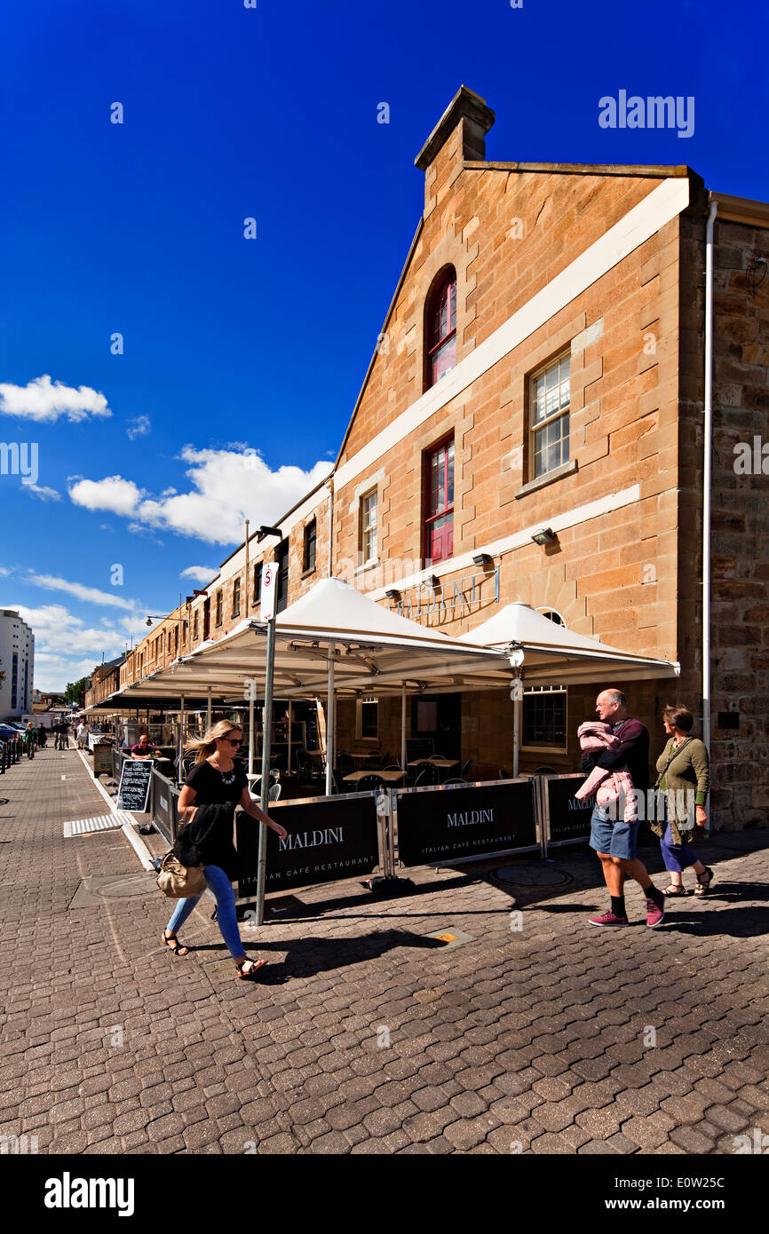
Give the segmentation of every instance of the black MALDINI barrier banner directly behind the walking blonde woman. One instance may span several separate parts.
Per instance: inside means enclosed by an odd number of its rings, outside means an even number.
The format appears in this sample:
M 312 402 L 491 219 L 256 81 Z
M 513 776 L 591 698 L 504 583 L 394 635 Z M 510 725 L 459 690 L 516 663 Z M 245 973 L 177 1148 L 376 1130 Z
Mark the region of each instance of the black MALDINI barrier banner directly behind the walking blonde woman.
M 285 839 L 267 833 L 265 891 L 309 887 L 372 874 L 379 865 L 376 801 L 374 793 L 310 801 L 302 805 L 270 803 L 272 817 L 289 833 Z M 237 816 L 236 835 L 241 861 L 238 893 L 257 890 L 257 845 L 262 823 Z

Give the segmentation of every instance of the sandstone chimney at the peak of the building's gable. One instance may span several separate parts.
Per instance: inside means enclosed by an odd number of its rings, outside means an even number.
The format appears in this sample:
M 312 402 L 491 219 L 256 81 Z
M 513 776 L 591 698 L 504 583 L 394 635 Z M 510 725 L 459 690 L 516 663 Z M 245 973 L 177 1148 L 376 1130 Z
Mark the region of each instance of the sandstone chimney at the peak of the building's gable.
M 459 175 L 463 163 L 485 159 L 485 137 L 494 118 L 485 99 L 467 85 L 459 86 L 414 160 L 420 172 L 425 172 L 426 213 L 436 205 L 438 179 L 443 186 L 446 180 L 451 183 Z

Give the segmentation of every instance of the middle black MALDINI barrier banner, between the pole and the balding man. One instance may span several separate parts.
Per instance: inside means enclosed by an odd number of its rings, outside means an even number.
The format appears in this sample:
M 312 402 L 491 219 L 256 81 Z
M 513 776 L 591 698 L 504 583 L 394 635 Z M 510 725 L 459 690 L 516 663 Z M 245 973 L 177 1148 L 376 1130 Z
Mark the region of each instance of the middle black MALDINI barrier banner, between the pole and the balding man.
M 397 793 L 402 865 L 451 863 L 536 845 L 534 791 L 528 780 Z

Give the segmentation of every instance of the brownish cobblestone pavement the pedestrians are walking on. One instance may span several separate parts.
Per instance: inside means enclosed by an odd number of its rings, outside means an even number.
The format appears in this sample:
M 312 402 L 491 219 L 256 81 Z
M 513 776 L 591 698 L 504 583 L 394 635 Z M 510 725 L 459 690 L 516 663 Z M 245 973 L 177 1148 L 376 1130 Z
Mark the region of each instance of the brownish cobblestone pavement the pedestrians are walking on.
M 396 900 L 300 892 L 244 930 L 270 964 L 238 982 L 212 901 L 174 959 L 169 902 L 122 833 L 63 838 L 106 810 L 74 750 L 11 768 L 0 800 L 0 1135 L 85 1154 L 732 1154 L 769 1133 L 765 832 L 705 845 L 711 897 L 668 901 L 654 932 L 636 886 L 632 928 L 588 927 L 606 893 L 586 851 L 560 850 L 551 886 L 526 886 L 528 861 L 515 885 L 463 866 L 416 871 Z M 83 882 L 110 876 L 131 893 Z

